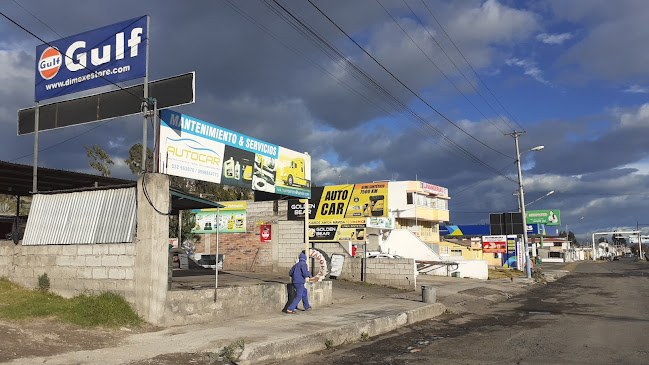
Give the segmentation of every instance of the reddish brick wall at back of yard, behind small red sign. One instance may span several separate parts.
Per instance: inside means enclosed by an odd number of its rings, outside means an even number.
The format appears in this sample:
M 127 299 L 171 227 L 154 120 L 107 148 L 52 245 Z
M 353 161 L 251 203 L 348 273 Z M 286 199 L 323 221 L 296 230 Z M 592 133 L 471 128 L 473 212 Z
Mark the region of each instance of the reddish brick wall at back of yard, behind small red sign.
M 225 255 L 224 270 L 270 272 L 274 270 L 272 243 L 261 242 L 262 224 L 272 225 L 271 234 L 277 235 L 277 223 L 286 219 L 288 202 L 246 202 L 246 232 L 220 233 L 219 254 Z M 201 234 L 197 253 L 216 253 L 216 233 Z M 254 265 L 253 265 L 254 263 Z

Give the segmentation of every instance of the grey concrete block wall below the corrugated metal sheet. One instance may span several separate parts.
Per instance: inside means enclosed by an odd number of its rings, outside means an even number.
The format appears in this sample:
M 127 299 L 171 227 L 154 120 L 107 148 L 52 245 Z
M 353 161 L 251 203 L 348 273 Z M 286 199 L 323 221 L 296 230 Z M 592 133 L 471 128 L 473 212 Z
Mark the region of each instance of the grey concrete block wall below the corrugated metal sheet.
M 0 277 L 38 288 L 47 274 L 50 291 L 71 298 L 113 292 L 135 301 L 135 245 L 0 245 Z

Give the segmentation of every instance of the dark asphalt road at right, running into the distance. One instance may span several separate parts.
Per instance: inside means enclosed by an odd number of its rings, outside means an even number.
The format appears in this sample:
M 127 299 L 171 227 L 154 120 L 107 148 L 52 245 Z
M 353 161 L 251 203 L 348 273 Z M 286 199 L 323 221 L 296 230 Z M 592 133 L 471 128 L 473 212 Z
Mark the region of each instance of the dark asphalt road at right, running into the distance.
M 649 263 L 584 262 L 508 301 L 293 363 L 648 364 L 648 304 Z

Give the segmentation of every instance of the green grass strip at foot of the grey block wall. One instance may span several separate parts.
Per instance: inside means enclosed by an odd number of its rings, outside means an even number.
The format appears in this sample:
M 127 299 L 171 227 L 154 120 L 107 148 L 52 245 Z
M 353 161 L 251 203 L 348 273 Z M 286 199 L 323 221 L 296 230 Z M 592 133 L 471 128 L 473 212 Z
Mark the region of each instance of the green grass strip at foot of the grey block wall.
M 56 318 L 83 327 L 138 327 L 143 321 L 123 297 L 114 293 L 65 299 L 42 290 L 28 290 L 0 279 L 0 318 Z

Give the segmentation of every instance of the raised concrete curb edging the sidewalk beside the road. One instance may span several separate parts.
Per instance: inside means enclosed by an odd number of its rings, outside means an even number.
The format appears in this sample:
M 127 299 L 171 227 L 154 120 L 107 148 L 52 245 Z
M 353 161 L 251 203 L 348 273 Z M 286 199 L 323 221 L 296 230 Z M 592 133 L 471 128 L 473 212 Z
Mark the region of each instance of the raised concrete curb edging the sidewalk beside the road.
M 387 316 L 350 323 L 337 328 L 318 331 L 309 335 L 296 335 L 281 340 L 270 340 L 251 344 L 243 350 L 237 364 L 253 364 L 259 361 L 289 359 L 339 346 L 345 343 L 360 341 L 361 335 L 370 337 L 393 331 L 399 327 L 437 317 L 444 313 L 446 306 L 434 303 L 420 308 L 402 311 Z

